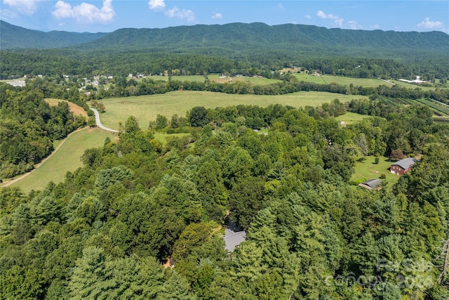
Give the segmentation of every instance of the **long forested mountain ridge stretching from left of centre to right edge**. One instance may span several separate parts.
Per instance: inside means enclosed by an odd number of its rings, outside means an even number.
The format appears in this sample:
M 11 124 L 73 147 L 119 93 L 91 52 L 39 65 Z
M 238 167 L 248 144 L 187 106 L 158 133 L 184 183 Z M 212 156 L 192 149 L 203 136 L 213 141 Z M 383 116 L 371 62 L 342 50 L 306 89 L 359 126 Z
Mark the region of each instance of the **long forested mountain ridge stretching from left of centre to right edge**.
M 229 52 L 257 53 L 261 50 L 279 50 L 287 47 L 290 51 L 323 53 L 333 53 L 335 50 L 353 53 L 354 50 L 373 49 L 382 51 L 409 49 L 419 53 L 447 51 L 449 35 L 443 32 L 383 32 L 327 29 L 311 25 L 269 26 L 263 23 L 232 23 L 163 29 L 124 28 L 83 46 L 149 47 L 185 52 L 190 52 L 189 49 L 217 47 Z

